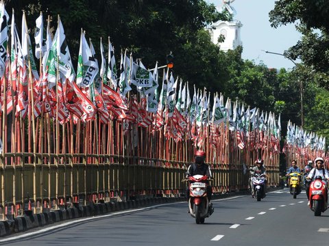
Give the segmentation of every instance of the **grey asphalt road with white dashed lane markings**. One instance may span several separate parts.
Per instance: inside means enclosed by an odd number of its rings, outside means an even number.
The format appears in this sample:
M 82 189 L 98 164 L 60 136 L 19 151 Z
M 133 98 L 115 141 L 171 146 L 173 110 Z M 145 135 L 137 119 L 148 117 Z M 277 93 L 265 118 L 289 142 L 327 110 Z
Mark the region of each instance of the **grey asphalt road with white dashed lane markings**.
M 329 245 L 329 210 L 315 217 L 305 191 L 288 189 L 256 202 L 249 195 L 213 201 L 215 212 L 197 225 L 187 203 L 163 204 L 68 221 L 0 238 L 5 245 Z M 3 241 L 6 240 L 6 241 Z

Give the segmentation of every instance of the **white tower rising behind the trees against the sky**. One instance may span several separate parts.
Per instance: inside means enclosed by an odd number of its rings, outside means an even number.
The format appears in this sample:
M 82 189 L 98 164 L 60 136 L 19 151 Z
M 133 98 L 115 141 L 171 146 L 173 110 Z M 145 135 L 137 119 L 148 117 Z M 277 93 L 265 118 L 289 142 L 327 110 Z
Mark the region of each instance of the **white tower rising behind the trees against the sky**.
M 223 10 L 227 10 L 230 14 L 234 16 L 236 14 L 234 8 L 230 5 L 234 0 L 223 0 Z M 242 46 L 241 41 L 241 27 L 242 24 L 239 20 L 232 21 L 222 21 L 219 20 L 217 23 L 212 23 L 208 27 L 210 32 L 211 41 L 214 44 L 218 44 L 222 51 L 228 51 L 229 49 L 236 49 L 237 46 Z M 223 35 L 224 42 L 218 42 L 220 35 Z

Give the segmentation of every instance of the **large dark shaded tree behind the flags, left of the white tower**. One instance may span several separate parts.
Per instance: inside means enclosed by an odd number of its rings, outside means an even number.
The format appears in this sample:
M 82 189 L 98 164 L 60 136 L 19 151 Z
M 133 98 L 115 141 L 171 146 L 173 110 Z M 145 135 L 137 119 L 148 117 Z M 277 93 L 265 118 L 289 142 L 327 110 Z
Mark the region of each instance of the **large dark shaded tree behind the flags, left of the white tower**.
M 223 54 L 220 54 L 218 46 L 210 42 L 204 27 L 217 20 L 228 20 L 230 16 L 217 12 L 215 5 L 206 1 L 6 1 L 6 9 L 12 8 L 16 9 L 18 24 L 21 9 L 27 10 L 27 23 L 32 33 L 40 11 L 43 16 L 51 16 L 54 29 L 60 15 L 73 64 L 77 63 L 80 29 L 83 28 L 86 37 L 93 40 L 98 55 L 99 38 L 108 40 L 110 36 L 118 63 L 120 50 L 128 49 L 134 59 L 141 58 L 147 68 L 153 68 L 156 61 L 165 64 L 166 55 L 172 51 L 175 55 L 174 72 L 180 77 L 202 86 L 215 85 L 214 89 L 218 89 L 216 84 L 223 84 L 217 81 L 223 72 L 218 57 L 223 57 Z M 103 41 L 103 44 L 106 46 L 106 42 Z

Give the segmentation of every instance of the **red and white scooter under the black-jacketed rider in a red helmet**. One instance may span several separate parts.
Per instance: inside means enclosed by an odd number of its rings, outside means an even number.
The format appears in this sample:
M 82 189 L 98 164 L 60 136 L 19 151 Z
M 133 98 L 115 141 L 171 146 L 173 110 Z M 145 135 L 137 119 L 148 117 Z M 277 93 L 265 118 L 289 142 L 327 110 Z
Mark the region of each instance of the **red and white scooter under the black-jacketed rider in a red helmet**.
M 195 217 L 195 223 L 204 223 L 204 219 L 212 215 L 214 208 L 209 206 L 207 196 L 207 187 L 209 182 L 208 176 L 194 175 L 189 176 L 183 181 L 188 181 L 188 189 L 190 191 L 188 199 L 188 208 L 190 215 Z

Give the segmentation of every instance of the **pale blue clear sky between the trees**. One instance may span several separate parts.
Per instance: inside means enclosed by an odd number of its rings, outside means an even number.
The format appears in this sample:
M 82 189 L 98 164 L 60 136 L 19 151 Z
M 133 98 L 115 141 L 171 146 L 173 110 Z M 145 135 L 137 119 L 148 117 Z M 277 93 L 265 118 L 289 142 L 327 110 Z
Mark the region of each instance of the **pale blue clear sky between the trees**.
M 223 5 L 222 0 L 206 1 L 220 8 Z M 241 27 L 242 58 L 252 60 L 255 64 L 263 62 L 268 68 L 291 69 L 295 65 L 289 59 L 262 51 L 282 54 L 301 38 L 294 25 L 281 26 L 277 29 L 271 27 L 269 12 L 273 10 L 275 1 L 277 0 L 235 0 L 230 4 L 236 11 L 234 20 L 240 20 L 243 25 Z

